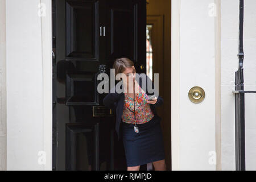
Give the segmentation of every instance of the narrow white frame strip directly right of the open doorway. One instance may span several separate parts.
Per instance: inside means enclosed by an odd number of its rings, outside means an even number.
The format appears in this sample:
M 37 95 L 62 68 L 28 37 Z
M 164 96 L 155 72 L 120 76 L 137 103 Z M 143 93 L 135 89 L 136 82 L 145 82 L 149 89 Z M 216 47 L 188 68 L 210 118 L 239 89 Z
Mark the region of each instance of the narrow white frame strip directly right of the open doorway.
M 171 1 L 171 154 L 180 169 L 180 0 Z

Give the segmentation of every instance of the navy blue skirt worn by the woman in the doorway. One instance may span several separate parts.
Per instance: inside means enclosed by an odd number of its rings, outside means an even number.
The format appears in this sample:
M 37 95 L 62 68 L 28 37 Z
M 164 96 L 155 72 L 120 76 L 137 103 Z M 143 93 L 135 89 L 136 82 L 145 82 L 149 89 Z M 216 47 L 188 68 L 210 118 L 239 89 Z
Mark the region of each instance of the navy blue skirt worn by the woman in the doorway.
M 137 124 L 139 133 L 135 133 L 133 123 L 121 121 L 123 148 L 127 167 L 164 159 L 164 143 L 161 118 L 155 115 L 150 121 Z

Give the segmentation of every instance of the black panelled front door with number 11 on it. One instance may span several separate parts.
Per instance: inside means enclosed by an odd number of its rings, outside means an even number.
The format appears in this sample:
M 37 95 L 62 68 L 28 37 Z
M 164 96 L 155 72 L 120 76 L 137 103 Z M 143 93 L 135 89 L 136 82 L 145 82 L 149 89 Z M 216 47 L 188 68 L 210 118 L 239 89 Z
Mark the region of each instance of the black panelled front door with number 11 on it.
M 97 75 L 117 57 L 146 72 L 146 1 L 53 0 L 52 15 L 53 169 L 126 170 Z

